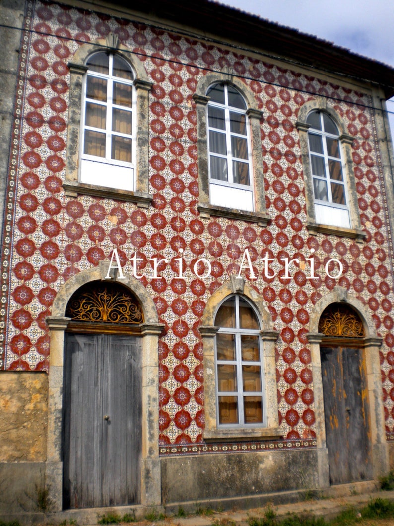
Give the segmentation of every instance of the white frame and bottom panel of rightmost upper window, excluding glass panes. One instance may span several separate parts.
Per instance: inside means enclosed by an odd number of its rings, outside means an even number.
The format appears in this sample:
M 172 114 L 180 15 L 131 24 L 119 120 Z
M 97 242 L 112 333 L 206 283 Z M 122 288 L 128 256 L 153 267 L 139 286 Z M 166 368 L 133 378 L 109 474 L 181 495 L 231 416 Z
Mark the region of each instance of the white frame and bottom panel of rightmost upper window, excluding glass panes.
M 333 225 L 338 227 L 344 227 L 344 228 L 350 228 L 351 226 L 351 217 L 350 217 L 350 208 L 349 208 L 349 195 L 348 195 L 348 188 L 347 188 L 347 180 L 346 180 L 346 166 L 344 163 L 344 150 L 343 145 L 340 140 L 339 131 L 338 134 L 331 134 L 324 130 L 324 120 L 323 115 L 325 115 L 327 118 L 333 122 L 335 127 L 338 129 L 337 124 L 335 121 L 325 112 L 322 112 L 320 110 L 313 110 L 309 113 L 317 113 L 320 118 L 320 126 L 322 129 L 316 129 L 310 126 L 308 128 L 308 153 L 309 153 L 309 163 L 310 163 L 310 171 L 312 175 L 312 189 L 313 189 L 313 196 L 314 196 L 314 204 L 315 204 L 315 215 L 316 215 L 316 222 L 321 224 L 327 224 L 327 225 Z M 308 115 L 308 116 L 309 116 Z M 308 117 L 307 117 L 308 118 Z M 310 148 L 310 142 L 309 137 L 311 135 L 317 135 L 322 137 L 322 144 L 323 144 L 323 154 L 319 154 L 317 152 L 314 152 Z M 338 141 L 338 147 L 339 147 L 339 155 L 340 157 L 332 157 L 328 155 L 327 151 L 327 141 L 326 138 L 335 139 Z M 312 172 L 313 167 L 313 161 L 312 156 L 320 157 L 324 159 L 324 169 L 326 177 L 320 177 L 316 176 Z M 331 179 L 330 177 L 330 171 L 329 171 L 329 161 L 340 161 L 341 169 L 342 169 L 342 176 L 343 181 L 338 181 L 336 179 Z M 327 197 L 328 201 L 317 199 L 315 197 L 315 187 L 314 187 L 314 180 L 321 180 L 324 181 L 327 185 Z M 345 205 L 341 205 L 339 203 L 334 203 L 333 201 L 333 194 L 331 190 L 331 182 L 334 182 L 335 184 L 342 185 L 344 187 L 344 196 L 345 196 Z

